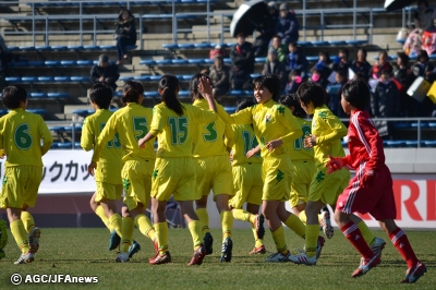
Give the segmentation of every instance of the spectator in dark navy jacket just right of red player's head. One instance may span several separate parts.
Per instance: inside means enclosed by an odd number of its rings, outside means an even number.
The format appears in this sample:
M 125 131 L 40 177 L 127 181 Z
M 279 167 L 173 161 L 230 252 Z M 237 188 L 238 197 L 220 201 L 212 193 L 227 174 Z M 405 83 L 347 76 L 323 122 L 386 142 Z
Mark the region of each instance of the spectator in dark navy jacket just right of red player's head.
M 391 73 L 387 70 L 380 71 L 379 82 L 375 86 L 375 92 L 371 97 L 371 109 L 375 118 L 399 117 L 400 101 L 398 100 L 398 89 L 390 80 Z M 375 126 L 382 137 L 393 138 L 393 124 L 388 121 L 374 120 Z

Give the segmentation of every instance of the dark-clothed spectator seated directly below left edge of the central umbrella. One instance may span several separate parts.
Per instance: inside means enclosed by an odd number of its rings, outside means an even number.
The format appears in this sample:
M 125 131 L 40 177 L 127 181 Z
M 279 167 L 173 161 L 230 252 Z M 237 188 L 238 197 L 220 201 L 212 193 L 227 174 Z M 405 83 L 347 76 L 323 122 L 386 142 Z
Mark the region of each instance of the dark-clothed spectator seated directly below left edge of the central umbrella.
M 253 45 L 245 41 L 245 35 L 240 33 L 237 36 L 237 45 L 230 51 L 232 69 L 230 75 L 231 87 L 242 89 L 244 85 L 252 88 L 250 74 L 254 71 Z

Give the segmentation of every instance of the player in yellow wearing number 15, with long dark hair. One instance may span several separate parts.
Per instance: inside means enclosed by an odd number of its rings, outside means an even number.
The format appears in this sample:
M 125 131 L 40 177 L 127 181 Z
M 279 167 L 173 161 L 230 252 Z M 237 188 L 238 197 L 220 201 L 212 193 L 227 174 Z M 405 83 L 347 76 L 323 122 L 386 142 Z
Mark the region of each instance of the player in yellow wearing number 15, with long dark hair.
M 206 255 L 202 243 L 202 226 L 194 212 L 193 202 L 199 198 L 195 182 L 195 165 L 192 157 L 194 129 L 198 123 L 210 123 L 217 119 L 214 113 L 215 101 L 211 87 L 202 78 L 202 88 L 206 86 L 205 98 L 208 109 L 202 110 L 178 99 L 179 80 L 174 75 L 164 75 L 159 81 L 158 92 L 161 102 L 154 108 L 150 131 L 140 140 L 141 147 L 153 148 L 153 141 L 158 138 L 157 159 L 153 173 L 152 208 L 159 253 L 149 259 L 153 265 L 171 262 L 168 245 L 168 223 L 165 209 L 171 195 L 180 203 L 182 214 L 187 222 L 194 255 L 187 266 L 201 265 Z

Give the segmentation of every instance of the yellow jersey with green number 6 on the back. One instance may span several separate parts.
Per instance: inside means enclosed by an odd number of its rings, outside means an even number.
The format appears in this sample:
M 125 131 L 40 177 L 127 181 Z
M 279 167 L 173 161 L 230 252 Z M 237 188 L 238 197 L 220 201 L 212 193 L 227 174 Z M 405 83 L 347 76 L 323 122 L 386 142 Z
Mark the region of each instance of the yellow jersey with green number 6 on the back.
M 7 154 L 5 167 L 43 166 L 41 157 L 51 143 L 53 137 L 39 114 L 19 108 L 0 118 L 0 148 Z

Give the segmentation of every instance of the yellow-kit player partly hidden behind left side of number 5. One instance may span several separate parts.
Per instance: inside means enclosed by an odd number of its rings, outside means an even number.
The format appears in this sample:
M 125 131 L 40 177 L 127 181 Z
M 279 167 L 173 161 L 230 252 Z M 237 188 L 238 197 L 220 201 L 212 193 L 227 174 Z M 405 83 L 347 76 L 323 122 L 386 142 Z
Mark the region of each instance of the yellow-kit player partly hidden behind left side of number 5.
M 106 122 L 112 116 L 109 111 L 112 89 L 104 83 L 97 83 L 90 88 L 89 99 L 96 112 L 83 122 L 81 146 L 86 152 L 94 149 Z M 122 195 L 121 158 L 121 143 L 116 134 L 114 138 L 109 141 L 101 150 L 98 170 L 95 171 L 97 191 L 89 201 L 90 208 L 109 229 L 109 250 L 114 250 L 121 241 L 121 216 L 117 213 L 116 205 L 116 201 Z M 135 245 L 138 247 L 137 244 Z

